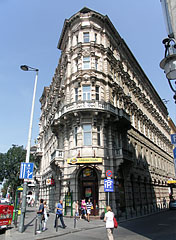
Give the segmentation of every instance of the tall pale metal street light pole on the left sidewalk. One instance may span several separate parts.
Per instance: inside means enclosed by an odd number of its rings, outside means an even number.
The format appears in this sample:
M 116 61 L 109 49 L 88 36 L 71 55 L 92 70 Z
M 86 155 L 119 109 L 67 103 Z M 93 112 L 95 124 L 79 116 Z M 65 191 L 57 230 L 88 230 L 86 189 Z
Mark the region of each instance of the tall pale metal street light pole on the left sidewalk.
M 27 151 L 26 151 L 26 163 L 29 163 L 30 158 L 30 147 L 31 147 L 31 133 L 32 133 L 32 123 L 33 123 L 33 114 L 34 114 L 34 103 L 35 103 L 35 94 L 37 88 L 37 80 L 38 80 L 38 69 L 32 68 L 27 65 L 22 65 L 20 68 L 23 71 L 35 71 L 35 83 L 34 83 L 34 92 L 33 92 L 33 99 L 32 99 L 32 108 L 31 108 L 31 117 L 30 117 L 30 124 L 29 124 L 29 133 L 28 133 L 28 142 L 27 142 Z M 26 195 L 27 195 L 27 179 L 24 179 L 23 184 L 23 195 L 22 195 L 22 205 L 21 205 L 21 217 L 19 223 L 19 232 L 24 231 L 24 219 L 25 219 L 25 212 L 26 212 Z

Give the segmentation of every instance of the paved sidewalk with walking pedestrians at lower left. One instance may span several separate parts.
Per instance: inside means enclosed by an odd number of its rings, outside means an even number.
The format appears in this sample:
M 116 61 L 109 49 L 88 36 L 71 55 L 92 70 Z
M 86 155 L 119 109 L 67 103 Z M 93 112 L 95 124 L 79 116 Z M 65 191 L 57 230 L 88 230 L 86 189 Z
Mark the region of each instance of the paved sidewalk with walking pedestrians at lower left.
M 30 207 L 27 208 L 26 217 L 25 217 L 25 231 L 23 233 L 20 233 L 18 231 L 19 223 L 17 228 L 15 228 L 15 226 L 12 224 L 11 228 L 9 228 L 5 233 L 5 240 L 49 239 L 50 237 L 59 237 L 72 232 L 84 231 L 86 229 L 105 227 L 105 223 L 102 220 L 93 219 L 93 217 L 91 219 L 90 217 L 90 222 L 87 222 L 82 219 L 81 220 L 78 219 L 76 221 L 76 227 L 74 228 L 74 218 L 64 217 L 64 222 L 67 227 L 65 229 L 58 227 L 58 231 L 56 232 L 56 229 L 54 228 L 55 214 L 50 213 L 50 216 L 47 222 L 47 230 L 40 234 L 35 235 L 34 225 L 35 225 L 36 211 L 37 211 L 36 208 L 30 208 Z M 18 219 L 18 222 L 19 220 L 20 220 L 20 217 Z M 58 221 L 58 224 L 60 225 L 60 220 Z

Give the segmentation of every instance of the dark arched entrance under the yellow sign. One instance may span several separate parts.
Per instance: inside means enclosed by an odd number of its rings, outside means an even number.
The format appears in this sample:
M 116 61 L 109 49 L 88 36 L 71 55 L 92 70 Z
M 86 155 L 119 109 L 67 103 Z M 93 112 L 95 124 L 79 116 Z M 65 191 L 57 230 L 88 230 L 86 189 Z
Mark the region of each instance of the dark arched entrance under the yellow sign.
M 93 168 L 83 168 L 78 176 L 78 194 L 79 200 L 91 199 L 93 203 L 93 215 L 98 215 L 98 178 Z

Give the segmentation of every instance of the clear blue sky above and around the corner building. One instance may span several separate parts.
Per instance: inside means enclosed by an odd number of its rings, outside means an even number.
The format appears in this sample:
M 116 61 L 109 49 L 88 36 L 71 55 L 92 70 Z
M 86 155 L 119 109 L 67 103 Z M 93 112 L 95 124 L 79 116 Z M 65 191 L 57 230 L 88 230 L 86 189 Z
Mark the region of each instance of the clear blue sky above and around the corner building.
M 60 50 L 57 43 L 66 18 L 84 6 L 108 15 L 175 120 L 173 93 L 159 67 L 167 37 L 160 0 L 0 0 L 0 152 L 12 144 L 26 147 L 35 72 L 39 68 L 32 144 L 38 136 L 39 99 L 49 86 Z

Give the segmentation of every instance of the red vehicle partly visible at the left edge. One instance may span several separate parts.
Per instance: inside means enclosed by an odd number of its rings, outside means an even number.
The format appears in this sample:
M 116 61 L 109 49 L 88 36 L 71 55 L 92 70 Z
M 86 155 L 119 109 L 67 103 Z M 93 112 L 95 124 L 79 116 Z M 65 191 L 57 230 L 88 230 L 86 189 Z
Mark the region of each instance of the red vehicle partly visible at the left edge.
M 13 206 L 0 204 L 0 229 L 11 225 L 13 216 Z

